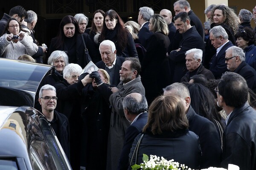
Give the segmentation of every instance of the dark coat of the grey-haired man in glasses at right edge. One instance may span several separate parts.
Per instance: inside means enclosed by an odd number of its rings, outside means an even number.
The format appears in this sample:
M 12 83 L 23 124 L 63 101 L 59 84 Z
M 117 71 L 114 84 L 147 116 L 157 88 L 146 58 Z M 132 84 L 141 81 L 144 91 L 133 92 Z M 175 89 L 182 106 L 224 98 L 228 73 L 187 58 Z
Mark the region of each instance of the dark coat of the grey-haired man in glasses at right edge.
M 241 64 L 234 71 L 237 74 L 240 74 L 247 82 L 248 88 L 256 92 L 256 71 L 245 61 L 242 61 Z

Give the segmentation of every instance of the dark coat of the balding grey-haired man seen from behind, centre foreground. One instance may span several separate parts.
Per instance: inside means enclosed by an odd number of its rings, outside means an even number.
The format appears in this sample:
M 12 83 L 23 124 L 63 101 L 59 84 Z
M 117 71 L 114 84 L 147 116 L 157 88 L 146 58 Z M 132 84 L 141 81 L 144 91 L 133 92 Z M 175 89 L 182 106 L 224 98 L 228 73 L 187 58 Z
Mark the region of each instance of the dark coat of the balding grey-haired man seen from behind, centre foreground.
M 118 170 L 127 170 L 129 167 L 129 153 L 132 143 L 138 134 L 142 133 L 143 127 L 148 122 L 148 113 L 142 113 L 126 130 L 125 142 L 119 159 Z

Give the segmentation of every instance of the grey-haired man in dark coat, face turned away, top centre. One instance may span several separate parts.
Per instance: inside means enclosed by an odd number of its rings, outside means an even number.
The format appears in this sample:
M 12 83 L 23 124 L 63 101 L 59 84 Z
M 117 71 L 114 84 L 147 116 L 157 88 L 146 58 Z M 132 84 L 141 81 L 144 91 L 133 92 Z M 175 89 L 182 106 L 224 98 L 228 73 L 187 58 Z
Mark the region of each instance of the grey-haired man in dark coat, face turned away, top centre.
M 139 42 L 144 47 L 147 48 L 148 38 L 153 34 L 149 31 L 148 24 L 151 16 L 154 14 L 154 10 L 147 6 L 141 7 L 139 9 L 138 23 L 140 24 L 140 31 L 138 33 Z

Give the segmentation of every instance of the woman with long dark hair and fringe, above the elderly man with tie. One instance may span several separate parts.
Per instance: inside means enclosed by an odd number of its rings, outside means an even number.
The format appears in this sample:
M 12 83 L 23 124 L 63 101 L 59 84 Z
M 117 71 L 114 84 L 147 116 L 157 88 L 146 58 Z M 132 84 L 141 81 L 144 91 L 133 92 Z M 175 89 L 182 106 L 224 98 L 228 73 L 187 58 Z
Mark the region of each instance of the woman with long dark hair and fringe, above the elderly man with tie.
M 114 10 L 109 10 L 104 15 L 105 24 L 103 24 L 102 33 L 99 41 L 111 40 L 116 45 L 116 55 L 118 57 L 136 57 L 134 40 L 131 34 L 124 28 L 124 22 Z

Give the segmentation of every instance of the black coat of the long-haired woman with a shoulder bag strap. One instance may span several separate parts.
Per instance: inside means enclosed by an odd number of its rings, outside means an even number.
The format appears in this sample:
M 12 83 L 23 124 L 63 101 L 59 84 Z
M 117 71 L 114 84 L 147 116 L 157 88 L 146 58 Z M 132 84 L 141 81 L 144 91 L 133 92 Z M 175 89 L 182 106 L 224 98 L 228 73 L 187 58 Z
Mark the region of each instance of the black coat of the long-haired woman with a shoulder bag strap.
M 69 63 L 75 63 L 80 65 L 81 68 L 84 68 L 88 63 L 85 59 L 84 43 L 81 36 L 84 37 L 84 42 L 86 48 L 88 49 L 90 57 L 93 59 L 94 57 L 98 56 L 99 54 L 96 54 L 93 42 L 90 40 L 89 35 L 86 33 L 77 34 L 76 36 L 70 38 L 64 37 L 64 45 L 60 46 L 59 48 L 56 48 L 56 37 L 53 38 L 49 48 L 49 56 L 55 50 L 67 51 Z M 69 48 L 67 44 L 70 45 Z

